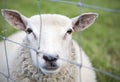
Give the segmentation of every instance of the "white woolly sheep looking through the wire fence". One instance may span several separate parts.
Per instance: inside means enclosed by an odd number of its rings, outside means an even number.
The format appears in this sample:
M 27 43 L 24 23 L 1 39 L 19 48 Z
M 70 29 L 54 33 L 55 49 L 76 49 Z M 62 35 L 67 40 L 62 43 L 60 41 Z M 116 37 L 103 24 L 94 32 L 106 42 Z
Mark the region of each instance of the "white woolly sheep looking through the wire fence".
M 84 67 L 80 69 L 61 58 L 92 67 L 88 56 L 72 39 L 72 35 L 92 25 L 98 14 L 84 13 L 74 18 L 41 14 L 27 18 L 16 10 L 2 9 L 2 15 L 14 28 L 24 31 L 13 34 L 8 39 L 31 47 L 29 49 L 6 42 L 10 77 L 16 82 L 96 82 L 93 70 Z M 7 69 L 3 42 L 0 46 L 3 49 L 0 51 L 0 72 L 5 73 Z M 0 82 L 6 82 L 2 76 Z

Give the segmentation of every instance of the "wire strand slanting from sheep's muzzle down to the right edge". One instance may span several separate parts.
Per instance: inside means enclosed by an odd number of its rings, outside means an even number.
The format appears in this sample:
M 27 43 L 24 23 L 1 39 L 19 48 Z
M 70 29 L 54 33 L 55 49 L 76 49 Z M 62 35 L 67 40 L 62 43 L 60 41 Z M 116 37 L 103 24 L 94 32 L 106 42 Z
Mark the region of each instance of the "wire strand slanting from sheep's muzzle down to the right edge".
M 64 58 L 60 58 L 60 59 L 63 60 L 63 61 L 65 61 L 65 62 L 68 62 L 68 63 L 70 63 L 70 64 L 76 65 L 76 66 L 78 66 L 78 67 L 84 67 L 84 68 L 86 68 L 86 69 L 94 70 L 94 71 L 96 71 L 96 72 L 99 72 L 99 73 L 108 75 L 108 76 L 110 76 L 110 77 L 112 77 L 112 78 L 114 78 L 114 79 L 116 79 L 116 80 L 120 80 L 120 77 L 119 77 L 119 76 L 116 76 L 116 75 L 114 75 L 114 74 L 112 74 L 112 73 L 109 73 L 109 72 L 107 72 L 107 71 L 100 70 L 100 69 L 97 69 L 97 68 L 95 68 L 95 67 L 88 67 L 88 66 L 85 66 L 85 65 L 81 65 L 80 63 L 71 61 L 71 60 L 69 60 L 69 59 L 64 59 Z

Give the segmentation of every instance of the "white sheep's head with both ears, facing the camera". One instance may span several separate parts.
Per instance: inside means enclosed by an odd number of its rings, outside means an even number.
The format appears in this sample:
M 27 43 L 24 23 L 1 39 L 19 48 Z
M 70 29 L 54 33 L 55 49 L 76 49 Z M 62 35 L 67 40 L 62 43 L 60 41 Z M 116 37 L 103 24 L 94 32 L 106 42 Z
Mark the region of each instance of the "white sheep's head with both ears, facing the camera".
M 65 65 L 61 58 L 70 57 L 72 33 L 86 29 L 97 17 L 95 13 L 85 13 L 73 19 L 56 14 L 27 18 L 7 9 L 2 10 L 2 14 L 13 27 L 26 32 L 30 47 L 40 48 L 39 53 L 32 49 L 30 53 L 34 65 L 45 74 L 56 73 Z

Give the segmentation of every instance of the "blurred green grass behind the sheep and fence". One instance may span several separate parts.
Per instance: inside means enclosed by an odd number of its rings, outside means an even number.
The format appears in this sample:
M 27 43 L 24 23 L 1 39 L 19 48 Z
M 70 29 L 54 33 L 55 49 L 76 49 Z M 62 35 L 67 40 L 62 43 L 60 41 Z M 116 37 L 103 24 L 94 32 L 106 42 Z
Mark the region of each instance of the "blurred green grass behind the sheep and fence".
M 90 8 L 82 10 L 74 5 L 40 0 L 41 13 L 63 14 L 70 18 L 80 13 L 95 12 L 99 17 L 95 23 L 82 33 L 75 33 L 74 39 L 83 47 L 90 57 L 93 66 L 120 76 L 120 13 L 110 13 Z M 83 1 L 83 0 L 67 0 Z M 84 0 L 85 4 L 96 5 L 120 10 L 120 0 Z M 38 13 L 37 0 L 0 0 L 0 9 L 8 8 L 20 11 L 27 17 Z M 0 14 L 0 35 L 7 36 L 16 32 L 8 23 L 4 22 Z M 2 40 L 0 38 L 0 40 Z M 87 77 L 86 77 L 87 78 Z M 98 82 L 120 82 L 109 76 L 97 72 Z

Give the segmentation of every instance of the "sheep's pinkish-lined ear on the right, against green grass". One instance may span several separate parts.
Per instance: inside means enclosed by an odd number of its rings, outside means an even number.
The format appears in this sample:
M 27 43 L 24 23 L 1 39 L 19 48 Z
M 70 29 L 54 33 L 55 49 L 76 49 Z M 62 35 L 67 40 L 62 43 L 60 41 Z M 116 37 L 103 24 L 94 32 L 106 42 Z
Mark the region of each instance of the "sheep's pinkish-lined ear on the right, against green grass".
M 82 31 L 92 25 L 98 14 L 85 13 L 72 19 L 74 31 Z

